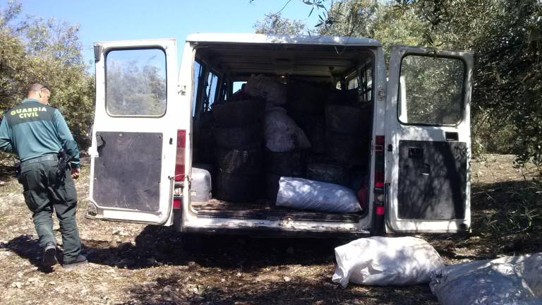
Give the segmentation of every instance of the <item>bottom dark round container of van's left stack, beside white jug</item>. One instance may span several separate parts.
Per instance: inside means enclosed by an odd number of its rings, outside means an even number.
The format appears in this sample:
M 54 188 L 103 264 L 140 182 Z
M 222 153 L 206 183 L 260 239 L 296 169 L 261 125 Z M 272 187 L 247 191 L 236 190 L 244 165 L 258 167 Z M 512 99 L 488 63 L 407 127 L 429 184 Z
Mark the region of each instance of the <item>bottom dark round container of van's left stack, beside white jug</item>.
M 223 201 L 251 202 L 261 195 L 262 177 L 246 174 L 217 174 L 216 197 Z

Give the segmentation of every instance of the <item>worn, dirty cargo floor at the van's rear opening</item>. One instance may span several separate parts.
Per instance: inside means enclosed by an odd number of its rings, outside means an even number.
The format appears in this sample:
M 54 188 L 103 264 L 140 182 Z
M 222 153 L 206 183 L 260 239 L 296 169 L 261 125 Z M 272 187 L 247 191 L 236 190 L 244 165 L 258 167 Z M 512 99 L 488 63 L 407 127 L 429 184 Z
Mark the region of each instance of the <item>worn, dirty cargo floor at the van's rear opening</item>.
M 234 218 L 251 220 L 305 220 L 325 222 L 359 222 L 364 213 L 321 213 L 312 211 L 294 210 L 276 206 L 274 201 L 260 200 L 250 203 L 233 203 L 211 199 L 210 201 L 191 203 L 192 208 L 198 212 L 198 217 Z

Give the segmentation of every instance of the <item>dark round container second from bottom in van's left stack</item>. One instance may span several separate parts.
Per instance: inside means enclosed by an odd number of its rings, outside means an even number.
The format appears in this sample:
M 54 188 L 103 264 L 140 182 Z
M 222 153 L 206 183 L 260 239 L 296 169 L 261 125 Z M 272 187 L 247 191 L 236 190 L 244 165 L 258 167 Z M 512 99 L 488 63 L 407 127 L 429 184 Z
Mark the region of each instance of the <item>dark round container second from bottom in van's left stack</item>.
M 263 152 L 259 148 L 250 150 L 215 150 L 219 171 L 225 174 L 261 174 Z

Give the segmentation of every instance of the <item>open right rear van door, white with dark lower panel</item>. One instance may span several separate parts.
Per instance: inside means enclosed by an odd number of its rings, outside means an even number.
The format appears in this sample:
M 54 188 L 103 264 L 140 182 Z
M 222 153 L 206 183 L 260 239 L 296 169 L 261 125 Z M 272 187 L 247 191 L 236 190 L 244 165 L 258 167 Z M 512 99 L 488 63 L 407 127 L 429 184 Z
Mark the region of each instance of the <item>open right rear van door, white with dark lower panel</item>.
M 474 56 L 391 49 L 386 100 L 386 226 L 393 232 L 469 229 Z

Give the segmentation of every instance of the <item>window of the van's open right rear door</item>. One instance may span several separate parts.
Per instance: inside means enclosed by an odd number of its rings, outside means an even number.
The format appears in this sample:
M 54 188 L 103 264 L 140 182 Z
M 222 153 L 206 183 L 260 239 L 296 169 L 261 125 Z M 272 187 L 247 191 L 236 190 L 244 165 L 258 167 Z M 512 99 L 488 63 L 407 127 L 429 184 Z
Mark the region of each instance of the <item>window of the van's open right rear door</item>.
M 399 78 L 399 121 L 454 125 L 463 114 L 465 64 L 461 59 L 406 55 Z

